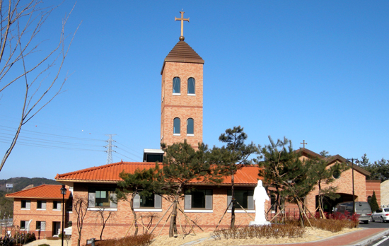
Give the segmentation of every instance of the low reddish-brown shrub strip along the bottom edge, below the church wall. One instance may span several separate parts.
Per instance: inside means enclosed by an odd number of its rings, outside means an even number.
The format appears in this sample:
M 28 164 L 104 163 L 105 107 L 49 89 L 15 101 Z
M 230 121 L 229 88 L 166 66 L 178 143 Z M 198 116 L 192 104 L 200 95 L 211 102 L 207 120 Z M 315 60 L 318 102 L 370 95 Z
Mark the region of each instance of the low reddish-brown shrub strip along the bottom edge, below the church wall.
M 148 246 L 151 245 L 153 235 L 132 235 L 120 239 L 109 239 L 95 242 L 95 246 Z

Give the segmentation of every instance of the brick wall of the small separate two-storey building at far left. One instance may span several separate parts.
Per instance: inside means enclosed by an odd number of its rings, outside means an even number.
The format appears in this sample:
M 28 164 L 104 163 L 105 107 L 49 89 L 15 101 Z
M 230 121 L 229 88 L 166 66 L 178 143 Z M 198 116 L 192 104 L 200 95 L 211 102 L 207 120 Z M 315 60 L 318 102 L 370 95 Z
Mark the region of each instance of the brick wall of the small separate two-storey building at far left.
M 30 209 L 21 209 L 21 198 L 15 198 L 13 203 L 13 229 L 11 233 L 14 234 L 16 231 L 27 233 L 27 230 L 20 230 L 21 221 L 31 221 L 30 223 L 30 233 L 35 233 L 37 239 L 51 237 L 57 233 L 53 232 L 52 222 L 57 221 L 62 223 L 62 210 L 53 210 L 53 200 L 52 199 L 42 199 L 46 201 L 46 209 L 37 209 L 37 199 L 23 199 L 30 200 L 31 206 Z M 62 201 L 61 201 L 62 202 Z M 36 222 L 45 221 L 46 226 L 45 230 L 37 230 Z M 65 228 L 67 227 L 67 222 L 69 221 L 69 213 L 65 214 Z

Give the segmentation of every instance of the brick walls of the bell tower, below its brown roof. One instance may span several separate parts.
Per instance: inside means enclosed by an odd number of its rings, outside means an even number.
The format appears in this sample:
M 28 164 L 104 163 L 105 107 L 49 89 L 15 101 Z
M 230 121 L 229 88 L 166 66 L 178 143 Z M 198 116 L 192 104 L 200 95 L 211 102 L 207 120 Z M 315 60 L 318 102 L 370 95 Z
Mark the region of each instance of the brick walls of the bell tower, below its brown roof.
M 180 94 L 173 95 L 173 78 L 181 80 Z M 187 79 L 195 79 L 195 95 L 187 95 Z M 203 64 L 166 62 L 162 74 L 161 143 L 172 145 L 187 139 L 197 148 L 202 142 Z M 180 118 L 180 136 L 173 136 L 173 119 Z M 194 136 L 187 136 L 187 119 L 194 119 Z

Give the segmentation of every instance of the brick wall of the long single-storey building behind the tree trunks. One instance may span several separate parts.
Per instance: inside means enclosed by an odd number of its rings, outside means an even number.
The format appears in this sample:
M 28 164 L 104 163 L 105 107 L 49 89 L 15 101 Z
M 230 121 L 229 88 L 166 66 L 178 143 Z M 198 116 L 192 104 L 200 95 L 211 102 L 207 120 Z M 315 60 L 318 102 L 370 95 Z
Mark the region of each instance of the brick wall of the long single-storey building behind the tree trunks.
M 211 188 L 211 187 L 204 187 L 204 189 Z M 255 187 L 236 187 L 236 189 L 254 189 Z M 216 187 L 213 191 L 213 212 L 208 213 L 186 213 L 189 218 L 191 218 L 193 221 L 196 221 L 196 223 L 204 230 L 204 231 L 212 231 L 219 220 L 221 219 L 221 216 L 223 216 L 224 211 L 227 207 L 227 189 L 228 187 Z M 87 187 L 78 186 L 75 184 L 74 187 L 74 200 L 76 200 L 75 197 L 82 196 L 87 197 Z M 183 200 L 180 201 L 180 205 L 182 209 L 184 208 L 184 202 Z M 141 221 L 141 217 L 143 217 L 143 223 L 147 225 L 149 223 L 148 216 L 155 216 L 153 218 L 153 223 L 151 228 L 153 228 L 158 220 L 163 216 L 163 213 L 168 211 L 168 208 L 170 206 L 170 202 L 166 201 L 166 199 L 162 199 L 162 212 L 137 212 L 137 217 L 139 221 Z M 237 211 L 242 212 L 241 209 L 237 209 Z M 108 216 L 108 211 L 105 211 L 105 218 Z M 163 219 L 161 223 L 157 226 L 156 230 L 154 230 L 154 234 L 158 235 L 160 231 L 162 230 L 162 234 L 166 235 L 168 233 L 168 227 L 170 223 L 170 218 L 168 222 L 166 223 L 165 227 L 163 228 L 163 224 L 166 222 L 166 219 L 168 218 L 170 212 L 166 213 L 165 216 L 163 216 Z M 73 221 L 73 228 L 72 228 L 72 245 L 77 245 L 77 228 L 76 228 L 76 213 L 72 213 L 72 221 Z M 255 218 L 255 213 L 250 213 L 252 218 Z M 236 225 L 248 225 L 250 221 L 253 219 L 250 218 L 246 213 L 236 213 Z M 185 221 L 185 217 L 180 214 L 178 216 L 178 230 L 180 230 L 180 222 L 183 228 L 185 228 L 186 231 L 189 231 L 189 225 L 187 221 Z M 117 211 L 112 212 L 112 215 L 110 219 L 108 220 L 108 223 L 105 225 L 105 229 L 103 231 L 103 240 L 108 238 L 122 238 L 126 235 L 127 231 L 129 230 L 130 226 L 133 222 L 133 216 L 132 211 L 129 208 L 129 203 L 127 201 L 119 201 L 117 204 Z M 231 222 L 231 213 L 227 212 L 226 215 L 223 217 L 223 220 L 221 221 L 221 224 L 219 225 L 219 228 L 228 228 Z M 103 228 L 100 217 L 98 216 L 97 211 L 91 211 L 89 210 L 86 214 L 86 218 L 83 221 L 83 230 L 82 230 L 82 236 L 81 236 L 81 245 L 86 244 L 86 240 L 90 238 L 100 238 L 101 229 Z M 195 232 L 199 233 L 201 230 L 199 228 L 194 228 Z M 144 228 L 139 225 L 139 233 L 143 233 Z M 133 234 L 134 230 L 129 230 L 129 235 Z

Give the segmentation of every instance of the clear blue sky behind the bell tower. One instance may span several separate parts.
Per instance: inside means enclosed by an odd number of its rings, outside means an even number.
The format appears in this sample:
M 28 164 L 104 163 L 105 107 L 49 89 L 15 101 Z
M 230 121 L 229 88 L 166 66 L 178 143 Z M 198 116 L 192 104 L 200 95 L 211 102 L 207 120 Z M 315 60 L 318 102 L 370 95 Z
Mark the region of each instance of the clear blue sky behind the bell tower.
M 82 21 L 66 57 L 64 93 L 23 128 L 0 179 L 47 177 L 141 161 L 159 148 L 161 68 L 184 35 L 205 61 L 204 136 L 242 126 L 248 141 L 291 139 L 294 148 L 344 158 L 388 159 L 388 1 L 79 1 Z M 40 33 L 42 53 L 58 40 L 66 1 Z M 37 54 L 39 55 L 39 53 Z M 1 81 L 0 83 L 4 83 Z M 1 157 L 18 124 L 21 86 L 0 99 Z

